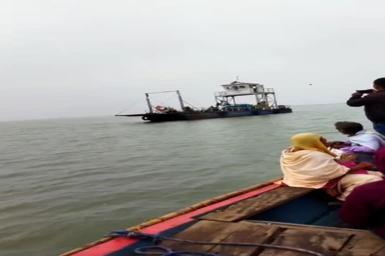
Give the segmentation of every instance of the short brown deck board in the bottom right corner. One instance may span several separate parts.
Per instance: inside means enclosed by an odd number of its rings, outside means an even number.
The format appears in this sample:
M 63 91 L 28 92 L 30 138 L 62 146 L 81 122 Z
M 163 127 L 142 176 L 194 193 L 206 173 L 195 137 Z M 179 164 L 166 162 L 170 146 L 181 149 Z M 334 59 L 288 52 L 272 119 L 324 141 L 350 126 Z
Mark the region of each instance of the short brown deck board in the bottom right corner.
M 381 252 L 382 251 L 382 252 Z M 379 254 L 378 254 L 379 253 Z M 338 256 L 385 255 L 385 240 L 373 233 L 355 234 L 337 253 Z

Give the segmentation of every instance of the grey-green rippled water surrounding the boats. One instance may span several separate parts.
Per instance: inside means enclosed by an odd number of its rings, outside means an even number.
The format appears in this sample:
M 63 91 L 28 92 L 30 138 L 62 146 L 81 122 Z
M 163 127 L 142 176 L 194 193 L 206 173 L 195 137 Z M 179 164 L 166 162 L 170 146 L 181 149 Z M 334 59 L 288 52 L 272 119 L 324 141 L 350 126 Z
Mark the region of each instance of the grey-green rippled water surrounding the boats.
M 341 139 L 369 124 L 344 104 L 292 114 L 144 123 L 138 118 L 0 122 L 3 256 L 55 255 L 151 217 L 280 175 L 291 135 Z

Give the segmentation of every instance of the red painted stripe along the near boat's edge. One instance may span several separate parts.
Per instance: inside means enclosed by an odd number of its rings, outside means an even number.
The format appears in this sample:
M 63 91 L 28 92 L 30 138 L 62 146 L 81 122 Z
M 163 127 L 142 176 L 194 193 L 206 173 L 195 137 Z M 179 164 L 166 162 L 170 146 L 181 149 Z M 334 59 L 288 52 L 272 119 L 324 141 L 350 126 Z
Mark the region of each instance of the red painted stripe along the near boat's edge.
M 140 231 L 143 231 L 145 233 L 158 233 L 158 232 L 161 232 L 165 229 L 189 222 L 189 221 L 193 220 L 192 217 L 194 217 L 196 215 L 205 213 L 205 212 L 210 211 L 210 210 L 214 210 L 216 208 L 219 208 L 219 207 L 222 207 L 222 206 L 225 206 L 228 204 L 235 203 L 235 202 L 243 200 L 243 199 L 247 199 L 249 197 L 252 197 L 252 196 L 264 193 L 266 191 L 275 189 L 279 186 L 280 186 L 280 184 L 267 185 L 267 186 L 261 187 L 257 190 L 247 192 L 245 194 L 241 194 L 238 196 L 234 196 L 232 198 L 220 201 L 218 203 L 214 203 L 214 204 L 208 205 L 206 207 L 188 212 L 186 214 L 176 216 L 174 218 L 165 220 L 163 222 L 145 227 L 145 228 L 141 229 Z M 126 237 L 118 237 L 118 238 L 106 241 L 104 243 L 97 244 L 97 245 L 90 247 L 90 248 L 87 248 L 85 250 L 76 252 L 73 255 L 74 256 L 103 256 L 107 253 L 111 253 L 113 251 L 116 251 L 116 250 L 124 247 L 124 246 L 127 246 L 128 244 L 131 244 L 135 241 L 136 241 L 136 239 L 126 238 Z

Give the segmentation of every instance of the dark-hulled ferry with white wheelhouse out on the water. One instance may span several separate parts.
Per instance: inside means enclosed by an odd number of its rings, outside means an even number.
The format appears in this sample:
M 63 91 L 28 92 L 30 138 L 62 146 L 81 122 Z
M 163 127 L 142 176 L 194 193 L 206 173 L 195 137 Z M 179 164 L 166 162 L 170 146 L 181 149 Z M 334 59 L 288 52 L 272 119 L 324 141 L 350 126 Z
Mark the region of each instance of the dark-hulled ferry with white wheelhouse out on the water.
M 116 116 L 141 116 L 148 121 L 178 121 L 191 119 L 224 118 L 249 115 L 291 113 L 286 105 L 278 105 L 275 91 L 263 84 L 234 81 L 221 85 L 224 91 L 214 93 L 215 106 L 195 107 L 182 99 L 179 90 L 145 93 L 148 111 L 140 114 L 116 114 Z M 176 92 L 180 109 L 162 105 L 152 105 L 149 95 L 153 93 Z M 256 104 L 239 104 L 236 97 L 254 95 Z

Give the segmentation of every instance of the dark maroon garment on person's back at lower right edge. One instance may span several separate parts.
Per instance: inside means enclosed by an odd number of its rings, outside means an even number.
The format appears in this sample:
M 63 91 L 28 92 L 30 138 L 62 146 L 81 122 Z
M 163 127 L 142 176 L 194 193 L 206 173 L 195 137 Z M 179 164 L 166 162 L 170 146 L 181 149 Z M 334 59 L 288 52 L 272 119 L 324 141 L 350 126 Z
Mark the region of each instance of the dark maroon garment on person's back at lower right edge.
M 342 204 L 339 215 L 348 224 L 385 235 L 385 180 L 354 188 Z

